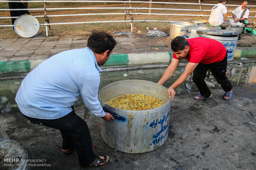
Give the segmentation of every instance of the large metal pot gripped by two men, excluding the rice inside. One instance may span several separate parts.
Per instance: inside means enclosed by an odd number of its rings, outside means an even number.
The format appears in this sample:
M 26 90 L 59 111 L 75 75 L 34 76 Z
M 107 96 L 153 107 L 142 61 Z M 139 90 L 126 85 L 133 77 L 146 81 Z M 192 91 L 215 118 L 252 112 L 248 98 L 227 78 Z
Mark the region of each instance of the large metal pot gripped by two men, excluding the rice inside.
M 165 104 L 149 110 L 123 110 L 105 102 L 123 94 L 146 94 Z M 137 154 L 159 148 L 168 137 L 171 99 L 166 87 L 146 80 L 122 80 L 100 90 L 99 100 L 105 112 L 115 119 L 101 120 L 101 135 L 110 147 Z

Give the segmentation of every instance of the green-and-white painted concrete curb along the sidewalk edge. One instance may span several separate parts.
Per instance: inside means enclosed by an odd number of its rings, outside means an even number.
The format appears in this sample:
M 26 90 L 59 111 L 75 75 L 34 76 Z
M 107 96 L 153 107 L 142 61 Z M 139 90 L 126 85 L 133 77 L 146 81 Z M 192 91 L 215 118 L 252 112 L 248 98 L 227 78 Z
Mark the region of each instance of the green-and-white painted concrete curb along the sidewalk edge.
M 170 62 L 173 52 L 112 54 L 104 66 L 152 64 Z M 256 50 L 235 50 L 235 58 L 255 57 Z M 0 62 L 0 74 L 28 72 L 36 68 L 44 60 L 21 60 Z

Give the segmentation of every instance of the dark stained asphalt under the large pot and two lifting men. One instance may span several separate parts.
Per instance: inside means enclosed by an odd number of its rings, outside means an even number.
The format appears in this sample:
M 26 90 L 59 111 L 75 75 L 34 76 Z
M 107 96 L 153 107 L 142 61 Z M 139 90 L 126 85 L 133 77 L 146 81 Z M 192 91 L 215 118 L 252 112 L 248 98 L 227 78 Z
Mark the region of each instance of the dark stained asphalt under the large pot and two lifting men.
M 222 99 L 223 90 L 213 98 L 197 101 L 192 94 L 175 96 L 171 106 L 168 139 L 159 149 L 143 154 L 126 154 L 102 140 L 100 118 L 85 106 L 76 113 L 88 124 L 95 154 L 109 155 L 107 170 L 255 170 L 256 169 L 256 84 L 234 87 L 232 100 Z M 79 170 L 76 152 L 61 152 L 58 130 L 31 124 L 16 110 L 2 114 L 0 124 L 9 138 L 21 143 L 29 159 L 46 159 L 50 167 L 31 170 Z

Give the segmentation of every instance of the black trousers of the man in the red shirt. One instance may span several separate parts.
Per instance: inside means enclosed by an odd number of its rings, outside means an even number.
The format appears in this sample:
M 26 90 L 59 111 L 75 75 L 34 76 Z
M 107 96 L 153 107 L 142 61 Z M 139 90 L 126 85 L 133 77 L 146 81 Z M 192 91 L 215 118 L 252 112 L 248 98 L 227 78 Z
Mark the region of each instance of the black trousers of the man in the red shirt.
M 199 63 L 194 69 L 193 82 L 197 85 L 197 88 L 202 96 L 211 96 L 211 91 L 207 87 L 204 78 L 206 76 L 207 70 L 210 70 L 216 81 L 221 85 L 225 92 L 232 90 L 232 85 L 230 80 L 226 76 L 227 69 L 227 54 L 226 57 L 220 61 L 211 64 L 201 64 Z

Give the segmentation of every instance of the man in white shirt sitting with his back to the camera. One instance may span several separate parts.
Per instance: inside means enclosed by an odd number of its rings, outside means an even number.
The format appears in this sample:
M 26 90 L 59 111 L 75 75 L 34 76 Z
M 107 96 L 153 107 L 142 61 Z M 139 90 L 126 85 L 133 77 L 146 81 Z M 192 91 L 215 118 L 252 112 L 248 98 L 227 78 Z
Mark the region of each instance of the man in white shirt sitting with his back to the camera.
M 211 15 L 208 20 L 209 24 L 213 26 L 220 26 L 225 30 L 230 30 L 231 23 L 224 19 L 228 16 L 228 7 L 225 6 L 226 0 L 220 0 L 217 5 L 211 9 Z

